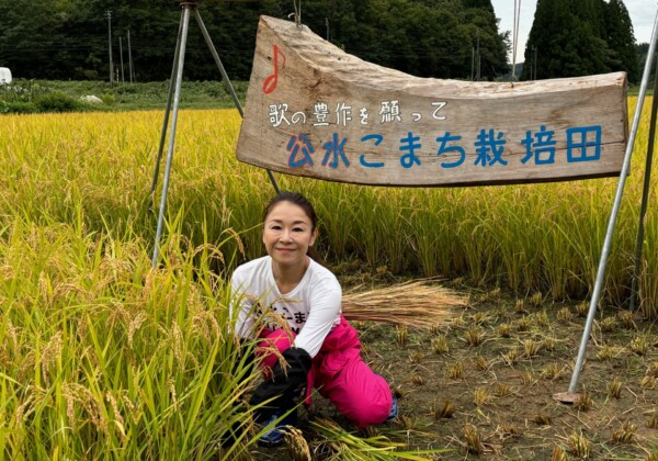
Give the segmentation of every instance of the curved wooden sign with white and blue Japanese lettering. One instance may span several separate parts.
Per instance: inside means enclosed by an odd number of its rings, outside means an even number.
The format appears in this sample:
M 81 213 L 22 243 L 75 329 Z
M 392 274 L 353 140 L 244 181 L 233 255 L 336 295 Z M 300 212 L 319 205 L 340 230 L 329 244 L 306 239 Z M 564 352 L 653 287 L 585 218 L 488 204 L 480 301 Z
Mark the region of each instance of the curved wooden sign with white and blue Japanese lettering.
M 361 184 L 595 178 L 619 175 L 627 116 L 624 72 L 513 83 L 418 78 L 262 16 L 237 157 Z

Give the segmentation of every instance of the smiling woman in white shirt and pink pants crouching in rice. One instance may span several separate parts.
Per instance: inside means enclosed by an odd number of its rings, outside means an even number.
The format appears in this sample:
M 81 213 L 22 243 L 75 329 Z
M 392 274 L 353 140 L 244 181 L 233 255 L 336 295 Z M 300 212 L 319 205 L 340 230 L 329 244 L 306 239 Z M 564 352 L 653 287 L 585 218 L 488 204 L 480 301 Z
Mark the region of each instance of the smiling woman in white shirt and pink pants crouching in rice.
M 282 192 L 264 211 L 268 256 L 240 266 L 232 276 L 239 300 L 236 331 L 262 339 L 257 353 L 263 356 L 264 381 L 250 404 L 271 400 L 256 414 L 269 425 L 296 405 L 305 387 L 308 403 L 315 386 L 359 428 L 390 420 L 397 416 L 397 402 L 386 380 L 361 358 L 358 333 L 341 315 L 340 284 L 308 256 L 317 235 L 313 205 L 302 194 Z M 281 322 L 272 322 L 254 330 L 263 306 L 284 319 L 283 328 Z M 292 413 L 259 442 L 281 445 L 285 426 L 295 423 Z

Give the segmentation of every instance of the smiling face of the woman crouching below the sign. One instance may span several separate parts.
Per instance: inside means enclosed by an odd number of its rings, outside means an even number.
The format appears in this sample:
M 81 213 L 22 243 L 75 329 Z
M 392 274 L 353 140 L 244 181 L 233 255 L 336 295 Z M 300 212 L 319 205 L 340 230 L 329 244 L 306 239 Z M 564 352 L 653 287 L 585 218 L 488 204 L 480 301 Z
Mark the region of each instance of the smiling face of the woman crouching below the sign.
M 300 206 L 283 201 L 275 204 L 265 217 L 263 244 L 268 254 L 280 265 L 306 263 L 306 251 L 313 246 L 317 229 Z

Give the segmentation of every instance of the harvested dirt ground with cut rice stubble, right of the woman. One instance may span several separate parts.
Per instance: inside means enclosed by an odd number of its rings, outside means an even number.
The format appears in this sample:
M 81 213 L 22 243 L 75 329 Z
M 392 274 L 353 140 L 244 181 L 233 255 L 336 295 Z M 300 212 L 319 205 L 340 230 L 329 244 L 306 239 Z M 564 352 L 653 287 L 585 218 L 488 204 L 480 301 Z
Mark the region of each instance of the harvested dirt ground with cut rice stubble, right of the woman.
M 568 390 L 589 304 L 461 289 L 468 307 L 431 329 L 355 324 L 365 359 L 398 396 L 400 416 L 358 432 L 318 395 L 302 412 L 311 452 L 317 441 L 307 419 L 329 417 L 361 437 L 451 450 L 428 459 L 658 460 L 654 322 L 614 306 L 600 310 L 579 398 L 564 404 L 553 395 Z M 253 454 L 292 459 L 286 447 Z M 316 450 L 313 459 L 331 456 Z

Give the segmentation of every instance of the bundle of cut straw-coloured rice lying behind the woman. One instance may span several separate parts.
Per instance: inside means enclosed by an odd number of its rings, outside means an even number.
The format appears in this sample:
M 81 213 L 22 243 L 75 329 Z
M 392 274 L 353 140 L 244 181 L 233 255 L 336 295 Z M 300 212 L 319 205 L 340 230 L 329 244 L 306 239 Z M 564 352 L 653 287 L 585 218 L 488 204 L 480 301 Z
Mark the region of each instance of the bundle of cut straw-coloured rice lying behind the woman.
M 432 279 L 416 280 L 345 293 L 343 315 L 349 321 L 432 327 L 454 318 L 458 308 L 467 305 L 467 296 L 430 282 Z

